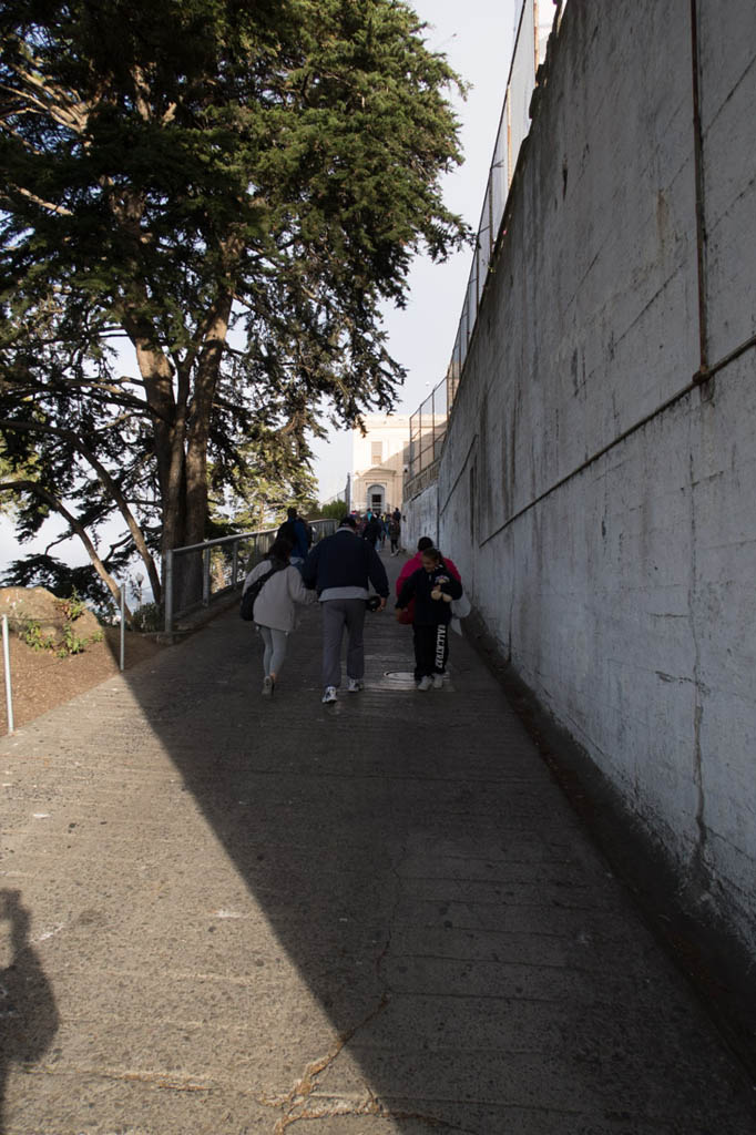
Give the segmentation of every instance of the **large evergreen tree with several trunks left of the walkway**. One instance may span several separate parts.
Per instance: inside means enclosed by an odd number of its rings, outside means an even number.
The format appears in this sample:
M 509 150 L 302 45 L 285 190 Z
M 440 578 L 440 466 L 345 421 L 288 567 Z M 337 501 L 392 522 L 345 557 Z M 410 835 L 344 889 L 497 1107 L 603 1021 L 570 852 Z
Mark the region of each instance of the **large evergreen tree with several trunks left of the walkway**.
M 324 405 L 390 409 L 380 305 L 468 236 L 439 191 L 455 76 L 402 0 L 0 11 L 0 453 L 35 455 L 0 488 L 106 580 L 119 512 L 159 596 L 213 485 L 270 478 L 280 436 L 306 460 Z

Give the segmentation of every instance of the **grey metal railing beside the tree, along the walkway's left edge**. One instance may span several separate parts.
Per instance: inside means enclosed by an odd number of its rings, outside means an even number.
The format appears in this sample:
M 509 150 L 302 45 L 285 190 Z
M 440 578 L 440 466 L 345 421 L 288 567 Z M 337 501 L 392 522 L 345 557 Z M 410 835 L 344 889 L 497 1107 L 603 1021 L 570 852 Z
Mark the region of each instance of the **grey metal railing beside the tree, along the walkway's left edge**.
M 314 540 L 336 531 L 335 520 L 313 520 L 309 523 Z M 167 552 L 163 569 L 166 633 L 173 632 L 179 615 L 209 607 L 213 599 L 237 588 L 246 573 L 270 550 L 277 531 L 278 528 L 266 528 L 258 532 L 238 532 Z M 184 574 L 191 575 L 194 581 L 201 573 L 201 599 L 182 605 L 176 595 L 177 560 L 187 556 L 195 557 L 195 563 L 183 564 L 188 569 Z

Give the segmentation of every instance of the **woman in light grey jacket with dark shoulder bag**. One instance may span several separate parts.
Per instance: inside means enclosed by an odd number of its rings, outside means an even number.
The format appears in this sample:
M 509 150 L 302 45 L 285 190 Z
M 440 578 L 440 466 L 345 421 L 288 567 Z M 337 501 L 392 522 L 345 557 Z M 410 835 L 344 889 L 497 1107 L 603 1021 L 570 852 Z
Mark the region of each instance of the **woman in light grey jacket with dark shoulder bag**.
M 274 570 L 254 600 L 254 622 L 264 644 L 262 692 L 266 697 L 272 697 L 276 679 L 284 665 L 286 640 L 296 627 L 296 604 L 317 603 L 314 591 L 305 588 L 302 575 L 289 564 L 289 550 L 287 540 L 276 540 L 268 556 L 246 577 L 242 590 L 243 595 L 257 579 Z

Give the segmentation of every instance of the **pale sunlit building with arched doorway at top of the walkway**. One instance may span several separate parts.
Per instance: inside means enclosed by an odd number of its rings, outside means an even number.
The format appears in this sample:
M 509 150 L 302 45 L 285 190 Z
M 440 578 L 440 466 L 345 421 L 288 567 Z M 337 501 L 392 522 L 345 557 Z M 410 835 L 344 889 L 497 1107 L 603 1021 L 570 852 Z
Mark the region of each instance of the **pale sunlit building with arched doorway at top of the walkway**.
M 364 424 L 364 435 L 352 430 L 352 508 L 393 512 L 402 507 L 410 419 L 367 414 Z

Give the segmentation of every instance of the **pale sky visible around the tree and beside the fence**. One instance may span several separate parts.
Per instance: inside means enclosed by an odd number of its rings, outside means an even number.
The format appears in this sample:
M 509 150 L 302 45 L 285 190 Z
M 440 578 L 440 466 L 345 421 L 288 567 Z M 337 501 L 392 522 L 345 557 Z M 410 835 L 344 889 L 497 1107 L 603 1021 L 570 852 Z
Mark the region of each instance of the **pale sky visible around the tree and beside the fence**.
M 521 0 L 412 0 L 429 26 L 426 42 L 443 52 L 470 85 L 465 100 L 450 92 L 457 118 L 464 162 L 443 180 L 446 204 L 477 229 L 482 208 L 496 131 L 504 102 L 515 24 Z M 412 414 L 444 378 L 452 356 L 472 253 L 465 250 L 443 264 L 418 258 L 409 279 L 408 304 L 386 312 L 389 353 L 408 370 L 397 390 L 396 413 Z M 352 465 L 352 435 L 331 431 L 313 445 L 320 499 L 343 495 Z M 43 550 L 53 538 L 45 524 L 42 539 L 19 547 L 12 524 L 0 516 L 0 568 L 17 556 Z M 70 564 L 86 563 L 77 538 L 58 546 L 54 555 Z

